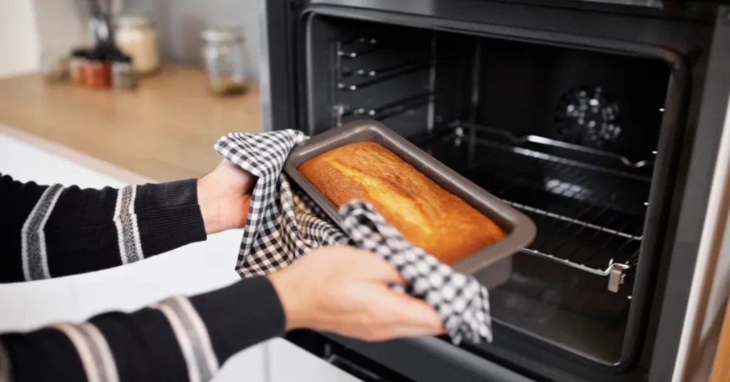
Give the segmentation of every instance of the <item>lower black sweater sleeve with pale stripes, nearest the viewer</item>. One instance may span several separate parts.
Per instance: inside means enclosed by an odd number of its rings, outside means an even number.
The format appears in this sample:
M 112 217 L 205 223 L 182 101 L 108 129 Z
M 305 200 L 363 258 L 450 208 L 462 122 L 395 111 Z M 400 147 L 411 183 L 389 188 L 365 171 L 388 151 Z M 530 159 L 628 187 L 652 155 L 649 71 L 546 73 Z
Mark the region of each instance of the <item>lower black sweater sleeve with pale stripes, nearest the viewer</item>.
M 0 335 L 0 382 L 208 381 L 233 354 L 281 335 L 284 310 L 263 276 L 134 313 L 105 313 Z

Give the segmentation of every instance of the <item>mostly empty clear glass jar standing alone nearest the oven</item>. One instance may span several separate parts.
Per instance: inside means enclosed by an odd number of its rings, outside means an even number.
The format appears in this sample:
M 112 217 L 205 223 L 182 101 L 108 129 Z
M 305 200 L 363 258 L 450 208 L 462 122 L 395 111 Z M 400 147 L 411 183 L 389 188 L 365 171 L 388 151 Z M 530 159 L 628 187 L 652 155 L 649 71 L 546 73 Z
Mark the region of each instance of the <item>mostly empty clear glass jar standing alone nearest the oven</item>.
M 208 28 L 201 37 L 205 42 L 202 56 L 210 92 L 219 96 L 244 93 L 246 67 L 242 28 Z

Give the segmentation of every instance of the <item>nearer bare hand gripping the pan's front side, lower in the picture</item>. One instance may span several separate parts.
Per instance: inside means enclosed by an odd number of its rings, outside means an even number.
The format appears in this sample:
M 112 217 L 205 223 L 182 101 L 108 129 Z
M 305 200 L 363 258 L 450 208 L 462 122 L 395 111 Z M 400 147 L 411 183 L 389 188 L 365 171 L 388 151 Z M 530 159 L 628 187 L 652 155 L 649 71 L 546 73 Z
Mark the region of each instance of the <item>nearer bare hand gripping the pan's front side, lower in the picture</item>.
M 361 340 L 440 335 L 436 311 L 388 288 L 406 281 L 387 261 L 357 248 L 312 251 L 269 275 L 284 307 L 286 329 L 309 328 Z

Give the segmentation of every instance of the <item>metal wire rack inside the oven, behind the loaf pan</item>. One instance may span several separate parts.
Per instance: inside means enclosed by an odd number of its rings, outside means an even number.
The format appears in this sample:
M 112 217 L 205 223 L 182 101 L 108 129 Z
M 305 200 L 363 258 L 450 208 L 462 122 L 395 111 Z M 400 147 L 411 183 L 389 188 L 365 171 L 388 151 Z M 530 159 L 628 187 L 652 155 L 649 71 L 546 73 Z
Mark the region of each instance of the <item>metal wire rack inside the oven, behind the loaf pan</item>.
M 533 219 L 524 252 L 607 276 L 614 292 L 637 264 L 650 162 L 461 121 L 416 143 Z

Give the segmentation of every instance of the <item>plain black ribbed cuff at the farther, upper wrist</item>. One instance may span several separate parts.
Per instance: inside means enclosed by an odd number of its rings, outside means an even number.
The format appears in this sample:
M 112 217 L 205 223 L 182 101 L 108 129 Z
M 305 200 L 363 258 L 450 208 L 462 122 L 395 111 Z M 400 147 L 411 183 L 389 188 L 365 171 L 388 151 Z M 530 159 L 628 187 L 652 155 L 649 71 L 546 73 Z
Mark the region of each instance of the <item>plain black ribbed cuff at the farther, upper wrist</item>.
M 135 205 L 145 256 L 207 237 L 195 179 L 140 186 Z

